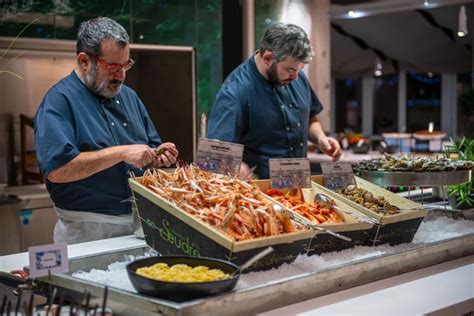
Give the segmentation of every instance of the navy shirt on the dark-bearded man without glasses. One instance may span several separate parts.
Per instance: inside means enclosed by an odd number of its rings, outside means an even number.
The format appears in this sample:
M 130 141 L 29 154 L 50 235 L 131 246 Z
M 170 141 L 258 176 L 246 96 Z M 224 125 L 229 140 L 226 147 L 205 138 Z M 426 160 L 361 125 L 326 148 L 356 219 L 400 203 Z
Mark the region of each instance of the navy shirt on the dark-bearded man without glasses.
M 222 84 L 209 114 L 208 138 L 243 144 L 243 161 L 269 178 L 268 159 L 307 156 L 309 118 L 322 106 L 305 74 L 288 85 L 267 81 L 254 57 Z

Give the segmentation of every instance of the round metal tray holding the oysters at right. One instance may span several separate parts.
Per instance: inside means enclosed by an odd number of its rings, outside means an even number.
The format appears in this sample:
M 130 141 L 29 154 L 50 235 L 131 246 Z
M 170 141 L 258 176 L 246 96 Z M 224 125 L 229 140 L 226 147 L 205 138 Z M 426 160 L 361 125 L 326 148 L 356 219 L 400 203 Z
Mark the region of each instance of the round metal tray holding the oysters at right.
M 378 185 L 445 186 L 471 181 L 471 170 L 387 172 L 358 170 L 359 176 Z

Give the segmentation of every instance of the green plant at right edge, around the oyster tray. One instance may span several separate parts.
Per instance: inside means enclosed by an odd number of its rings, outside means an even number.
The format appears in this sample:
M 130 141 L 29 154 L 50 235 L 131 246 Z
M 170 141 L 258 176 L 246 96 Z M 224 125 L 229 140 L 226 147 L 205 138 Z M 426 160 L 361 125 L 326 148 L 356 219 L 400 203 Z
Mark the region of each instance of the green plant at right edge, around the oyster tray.
M 463 137 L 458 141 L 453 141 L 453 145 L 446 146 L 446 157 L 455 156 L 459 160 L 474 161 L 474 139 Z M 448 195 L 456 197 L 456 205 L 468 204 L 474 206 L 474 179 L 471 182 L 448 186 Z

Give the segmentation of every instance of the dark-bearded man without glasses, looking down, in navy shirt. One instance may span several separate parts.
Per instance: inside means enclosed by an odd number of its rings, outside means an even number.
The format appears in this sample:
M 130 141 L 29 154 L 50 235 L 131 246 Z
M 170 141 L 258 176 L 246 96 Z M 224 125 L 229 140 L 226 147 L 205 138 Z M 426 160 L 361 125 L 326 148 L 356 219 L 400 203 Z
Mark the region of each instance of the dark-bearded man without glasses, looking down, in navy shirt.
M 308 139 L 339 159 L 339 143 L 324 133 L 317 118 L 321 103 L 301 71 L 312 58 L 303 29 L 275 24 L 255 55 L 223 83 L 209 115 L 208 137 L 245 146 L 240 177 L 254 169 L 269 178 L 268 160 L 306 157 Z

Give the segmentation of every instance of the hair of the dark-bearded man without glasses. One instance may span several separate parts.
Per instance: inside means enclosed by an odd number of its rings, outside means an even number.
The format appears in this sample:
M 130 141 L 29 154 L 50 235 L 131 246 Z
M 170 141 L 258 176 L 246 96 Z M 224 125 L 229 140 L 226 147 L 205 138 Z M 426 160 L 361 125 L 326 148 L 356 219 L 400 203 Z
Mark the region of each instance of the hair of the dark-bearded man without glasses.
M 260 54 L 266 50 L 273 53 L 276 61 L 289 57 L 307 64 L 314 56 L 306 32 L 294 24 L 278 23 L 270 26 L 260 41 Z

